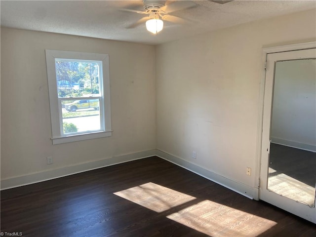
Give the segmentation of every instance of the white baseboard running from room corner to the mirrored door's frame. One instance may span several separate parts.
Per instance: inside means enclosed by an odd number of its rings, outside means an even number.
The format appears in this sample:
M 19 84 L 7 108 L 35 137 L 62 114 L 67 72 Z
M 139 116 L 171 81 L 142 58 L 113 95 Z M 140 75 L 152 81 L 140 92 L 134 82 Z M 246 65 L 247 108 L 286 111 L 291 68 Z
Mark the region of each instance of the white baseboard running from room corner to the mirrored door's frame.
M 241 194 L 245 197 L 248 197 L 250 199 L 259 200 L 259 189 L 246 186 L 242 183 L 239 183 L 235 180 L 226 178 L 224 176 L 221 176 L 219 174 L 214 173 L 213 171 L 210 171 L 208 169 L 205 169 L 201 166 L 198 166 L 197 164 L 191 163 L 187 160 L 184 160 L 182 158 L 175 157 L 173 155 L 167 154 L 163 151 L 157 150 L 156 156 L 159 158 L 163 158 L 165 160 L 168 160 L 176 165 L 179 165 L 187 170 L 190 170 L 193 173 L 198 174 L 199 176 L 202 176 L 208 180 L 213 181 L 214 183 L 217 183 L 219 185 L 222 185 L 238 194 Z

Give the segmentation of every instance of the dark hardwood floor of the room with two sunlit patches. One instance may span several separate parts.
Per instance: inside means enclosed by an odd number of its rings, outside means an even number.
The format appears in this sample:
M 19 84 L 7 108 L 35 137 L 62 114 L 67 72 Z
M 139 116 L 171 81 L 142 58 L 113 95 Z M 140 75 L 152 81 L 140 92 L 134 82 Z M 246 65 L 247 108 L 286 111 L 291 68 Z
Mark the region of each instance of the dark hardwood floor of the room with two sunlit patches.
M 314 237 L 316 225 L 158 157 L 1 191 L 29 237 Z

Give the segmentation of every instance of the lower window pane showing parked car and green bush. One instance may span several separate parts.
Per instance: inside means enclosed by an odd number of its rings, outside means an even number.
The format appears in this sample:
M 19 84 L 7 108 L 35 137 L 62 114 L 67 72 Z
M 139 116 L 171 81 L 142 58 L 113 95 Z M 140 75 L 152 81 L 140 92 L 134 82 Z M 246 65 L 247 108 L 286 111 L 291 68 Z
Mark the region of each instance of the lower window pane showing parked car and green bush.
M 99 99 L 62 100 L 61 103 L 65 135 L 101 129 Z

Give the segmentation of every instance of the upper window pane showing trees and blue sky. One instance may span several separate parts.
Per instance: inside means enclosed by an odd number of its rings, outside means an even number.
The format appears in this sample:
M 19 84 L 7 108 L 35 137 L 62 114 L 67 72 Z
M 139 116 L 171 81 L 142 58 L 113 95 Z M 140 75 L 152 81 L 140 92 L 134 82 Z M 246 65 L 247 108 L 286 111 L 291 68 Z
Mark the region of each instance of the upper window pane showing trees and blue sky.
M 100 94 L 99 61 L 55 59 L 59 98 Z

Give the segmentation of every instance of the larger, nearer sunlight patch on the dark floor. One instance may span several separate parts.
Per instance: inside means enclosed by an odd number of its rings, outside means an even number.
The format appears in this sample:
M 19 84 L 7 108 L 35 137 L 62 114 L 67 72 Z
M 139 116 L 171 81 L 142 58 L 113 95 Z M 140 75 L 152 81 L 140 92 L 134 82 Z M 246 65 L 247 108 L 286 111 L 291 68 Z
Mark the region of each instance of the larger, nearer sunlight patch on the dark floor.
M 276 225 L 269 219 L 210 200 L 184 208 L 167 218 L 212 237 L 255 237 Z

